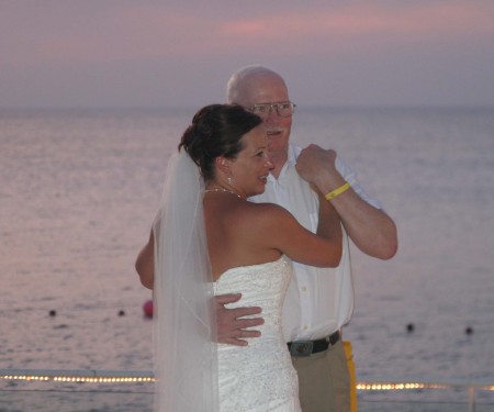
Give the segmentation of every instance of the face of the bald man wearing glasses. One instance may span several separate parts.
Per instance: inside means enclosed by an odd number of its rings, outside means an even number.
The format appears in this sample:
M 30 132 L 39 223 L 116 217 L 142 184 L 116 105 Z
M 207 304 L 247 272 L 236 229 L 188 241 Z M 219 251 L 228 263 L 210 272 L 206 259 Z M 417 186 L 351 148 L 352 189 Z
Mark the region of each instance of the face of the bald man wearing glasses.
M 287 86 L 280 77 L 273 74 L 257 74 L 246 79 L 237 103 L 250 110 L 255 104 L 289 101 Z M 271 108 L 263 116 L 263 125 L 268 135 L 269 157 L 279 171 L 288 158 L 292 116 L 280 116 L 277 108 Z

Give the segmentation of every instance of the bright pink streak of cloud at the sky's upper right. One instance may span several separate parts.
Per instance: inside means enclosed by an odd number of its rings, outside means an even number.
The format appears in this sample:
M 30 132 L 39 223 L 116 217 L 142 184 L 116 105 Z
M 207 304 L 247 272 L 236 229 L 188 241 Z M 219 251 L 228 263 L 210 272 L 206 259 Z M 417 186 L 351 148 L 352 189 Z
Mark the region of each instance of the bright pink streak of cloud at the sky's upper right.
M 468 2 L 411 3 L 394 8 L 364 4 L 228 21 L 222 25 L 222 32 L 231 42 L 263 40 L 259 44 L 261 47 L 280 40 L 293 46 L 321 38 L 339 43 L 368 35 L 381 36 L 383 43 L 416 42 L 476 33 L 494 34 L 494 20 L 492 14 Z

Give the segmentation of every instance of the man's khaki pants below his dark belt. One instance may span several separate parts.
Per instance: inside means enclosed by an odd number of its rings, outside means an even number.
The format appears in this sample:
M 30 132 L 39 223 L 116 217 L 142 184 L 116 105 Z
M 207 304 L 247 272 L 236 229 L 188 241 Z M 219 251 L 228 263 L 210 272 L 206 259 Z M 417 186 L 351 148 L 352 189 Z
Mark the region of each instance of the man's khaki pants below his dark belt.
M 292 357 L 303 412 L 350 412 L 350 374 L 341 341 L 325 352 Z

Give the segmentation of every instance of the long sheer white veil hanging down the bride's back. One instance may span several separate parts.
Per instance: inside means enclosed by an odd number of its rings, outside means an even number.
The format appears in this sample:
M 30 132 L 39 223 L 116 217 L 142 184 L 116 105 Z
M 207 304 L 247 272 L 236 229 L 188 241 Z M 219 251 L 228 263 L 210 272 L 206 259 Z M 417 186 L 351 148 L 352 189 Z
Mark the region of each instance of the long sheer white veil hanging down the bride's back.
M 215 311 L 204 185 L 182 149 L 171 156 L 153 224 L 156 412 L 218 410 Z

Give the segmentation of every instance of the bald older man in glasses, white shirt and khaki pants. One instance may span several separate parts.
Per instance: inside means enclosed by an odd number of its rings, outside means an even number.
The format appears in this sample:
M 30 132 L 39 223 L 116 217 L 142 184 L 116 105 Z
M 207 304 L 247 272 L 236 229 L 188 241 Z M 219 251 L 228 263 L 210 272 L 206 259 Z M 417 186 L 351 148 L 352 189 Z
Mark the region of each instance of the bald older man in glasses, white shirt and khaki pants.
M 269 136 L 274 168 L 266 192 L 251 200 L 281 204 L 315 232 L 318 198 L 311 189 L 314 185 L 327 193 L 326 199 L 340 215 L 345 229 L 340 266 L 321 269 L 294 264 L 295 278 L 283 308 L 283 331 L 299 372 L 303 411 L 348 411 L 350 379 L 341 344 L 341 327 L 353 308 L 348 237 L 363 253 L 389 259 L 397 249 L 395 224 L 334 151 L 316 145 L 301 149 L 290 143 L 295 104 L 279 74 L 262 66 L 245 67 L 231 77 L 227 99 L 261 116 Z M 225 308 L 238 299 L 239 294 L 217 300 L 218 341 L 247 345 L 245 338 L 259 335 L 251 327 L 262 319 L 244 316 L 258 314 L 261 308 Z

